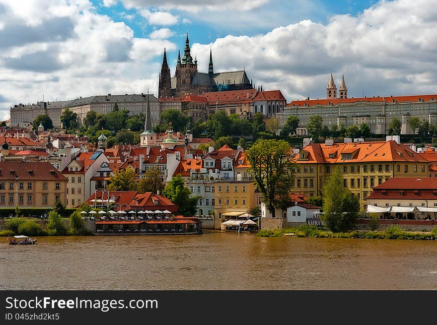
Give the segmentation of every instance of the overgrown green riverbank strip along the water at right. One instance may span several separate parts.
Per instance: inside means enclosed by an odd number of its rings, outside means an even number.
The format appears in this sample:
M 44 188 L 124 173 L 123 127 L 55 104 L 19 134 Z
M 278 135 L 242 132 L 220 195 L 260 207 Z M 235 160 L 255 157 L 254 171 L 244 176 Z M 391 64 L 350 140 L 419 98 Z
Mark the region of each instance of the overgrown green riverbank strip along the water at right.
M 258 232 L 260 237 L 317 237 L 317 238 L 366 238 L 366 239 L 421 239 L 437 240 L 437 227 L 432 231 L 405 231 L 398 226 L 384 230 L 354 230 L 334 233 L 317 226 L 302 225 L 298 228 L 266 229 Z

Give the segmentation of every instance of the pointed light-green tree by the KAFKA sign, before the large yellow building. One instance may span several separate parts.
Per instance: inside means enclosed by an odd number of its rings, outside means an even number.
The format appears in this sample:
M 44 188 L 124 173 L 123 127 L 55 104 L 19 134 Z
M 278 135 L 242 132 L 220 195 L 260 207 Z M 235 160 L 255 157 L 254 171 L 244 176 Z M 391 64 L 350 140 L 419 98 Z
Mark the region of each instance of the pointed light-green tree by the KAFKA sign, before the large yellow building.
M 323 187 L 323 214 L 321 219 L 333 232 L 352 230 L 358 220 L 360 199 L 343 186 L 340 166 L 334 170 Z

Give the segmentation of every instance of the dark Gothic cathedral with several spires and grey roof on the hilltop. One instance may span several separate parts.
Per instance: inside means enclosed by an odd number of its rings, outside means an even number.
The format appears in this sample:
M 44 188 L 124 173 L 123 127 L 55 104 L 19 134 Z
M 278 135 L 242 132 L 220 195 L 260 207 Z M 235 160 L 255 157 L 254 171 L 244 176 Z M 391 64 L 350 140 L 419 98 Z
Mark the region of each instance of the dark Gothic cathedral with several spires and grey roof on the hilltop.
M 180 51 L 174 77 L 171 77 L 167 63 L 167 54 L 164 57 L 159 73 L 158 97 L 180 97 L 185 95 L 202 95 L 206 92 L 225 90 L 253 89 L 252 82 L 246 71 L 230 71 L 214 73 L 213 54 L 210 50 L 208 73 L 197 71 L 197 59 L 191 57 L 190 42 L 185 40 L 184 56 L 181 59 Z

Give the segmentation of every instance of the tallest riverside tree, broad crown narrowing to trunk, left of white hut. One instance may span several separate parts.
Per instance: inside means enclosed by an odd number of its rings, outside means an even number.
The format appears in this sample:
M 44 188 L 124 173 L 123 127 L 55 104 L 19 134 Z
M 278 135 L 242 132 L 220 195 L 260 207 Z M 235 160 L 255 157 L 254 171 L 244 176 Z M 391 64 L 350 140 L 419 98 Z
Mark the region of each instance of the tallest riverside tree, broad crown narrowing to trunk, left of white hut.
M 290 201 L 294 183 L 294 163 L 290 144 L 284 140 L 258 139 L 246 151 L 262 201 L 275 217 L 275 209 Z

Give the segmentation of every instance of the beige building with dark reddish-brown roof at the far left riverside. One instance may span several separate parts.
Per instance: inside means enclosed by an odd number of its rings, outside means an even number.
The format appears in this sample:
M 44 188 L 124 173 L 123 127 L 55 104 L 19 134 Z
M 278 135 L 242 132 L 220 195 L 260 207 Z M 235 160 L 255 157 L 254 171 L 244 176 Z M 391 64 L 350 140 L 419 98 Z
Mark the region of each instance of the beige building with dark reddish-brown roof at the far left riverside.
M 48 162 L 0 163 L 0 207 L 66 205 L 67 178 Z

